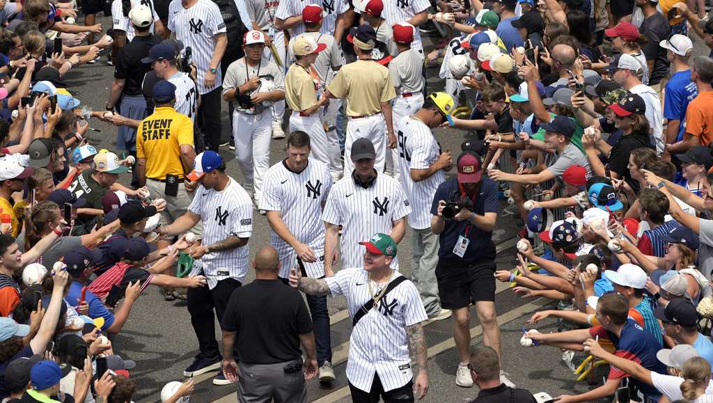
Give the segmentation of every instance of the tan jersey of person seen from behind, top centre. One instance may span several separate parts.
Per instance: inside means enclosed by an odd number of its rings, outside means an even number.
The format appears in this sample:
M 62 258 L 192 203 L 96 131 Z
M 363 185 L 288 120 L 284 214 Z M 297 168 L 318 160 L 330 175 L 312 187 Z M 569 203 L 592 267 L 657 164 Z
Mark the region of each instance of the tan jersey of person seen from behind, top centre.
M 381 102 L 396 98 L 389 69 L 371 60 L 358 60 L 339 69 L 327 89 L 337 98 L 347 98 L 347 116 L 381 112 Z

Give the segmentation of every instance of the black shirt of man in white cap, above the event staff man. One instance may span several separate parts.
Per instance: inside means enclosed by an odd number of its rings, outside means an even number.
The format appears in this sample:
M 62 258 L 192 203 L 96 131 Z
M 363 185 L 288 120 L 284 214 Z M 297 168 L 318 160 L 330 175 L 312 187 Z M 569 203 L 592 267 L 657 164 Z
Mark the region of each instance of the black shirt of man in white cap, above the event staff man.
M 160 37 L 154 35 L 134 36 L 134 39 L 119 50 L 114 61 L 114 78 L 126 80 L 124 95 L 143 95 L 141 83 L 143 76 L 151 69 L 151 65 L 141 63 L 141 59 L 148 56 L 151 46 L 160 41 Z

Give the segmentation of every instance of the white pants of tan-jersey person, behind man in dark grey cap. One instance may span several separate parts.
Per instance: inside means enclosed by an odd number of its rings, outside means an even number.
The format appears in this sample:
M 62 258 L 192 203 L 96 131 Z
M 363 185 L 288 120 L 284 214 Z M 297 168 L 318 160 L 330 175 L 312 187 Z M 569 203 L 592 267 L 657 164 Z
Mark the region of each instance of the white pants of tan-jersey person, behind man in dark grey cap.
M 376 151 L 376 172 L 384 172 L 384 157 L 386 155 L 386 121 L 384 115 L 375 113 L 362 118 L 352 118 L 347 121 L 347 138 L 344 140 L 344 176 L 352 175 L 354 163 L 352 162 L 352 143 L 357 138 L 368 138 L 374 143 Z

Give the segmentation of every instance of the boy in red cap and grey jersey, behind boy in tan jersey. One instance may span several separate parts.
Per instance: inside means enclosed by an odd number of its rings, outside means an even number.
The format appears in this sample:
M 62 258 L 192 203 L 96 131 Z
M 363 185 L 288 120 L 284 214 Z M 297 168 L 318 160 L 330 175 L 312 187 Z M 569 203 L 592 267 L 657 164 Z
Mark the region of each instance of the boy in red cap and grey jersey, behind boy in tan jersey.
M 322 7 L 317 4 L 307 4 L 302 9 L 302 22 L 304 23 L 304 34 L 297 36 L 312 36 L 317 44 L 324 44 L 326 47 L 324 51 L 319 52 L 317 58 L 314 59 L 312 63 L 312 68 L 314 72 L 317 73 L 319 77 L 319 89 L 318 91 L 324 91 L 327 88 L 327 84 L 334 78 L 334 71 L 339 71 L 339 68 L 344 66 L 344 53 L 342 49 L 339 48 L 339 43 L 334 36 L 330 34 L 322 34 L 320 29 L 322 29 Z M 292 38 L 289 40 L 289 46 L 287 46 L 287 60 L 288 63 L 294 62 L 294 53 L 292 53 L 292 44 L 297 38 Z M 337 111 L 339 107 L 342 106 L 341 99 L 333 99 L 329 101 L 329 104 L 324 108 L 319 109 L 319 118 L 324 123 L 324 131 L 327 133 L 327 141 L 329 142 L 329 150 L 339 150 L 339 138 L 337 138 Z M 314 141 L 314 146 L 316 146 L 317 141 Z M 342 178 L 342 159 L 339 158 L 341 151 L 339 153 L 329 153 L 329 170 L 332 173 L 332 178 L 335 181 Z

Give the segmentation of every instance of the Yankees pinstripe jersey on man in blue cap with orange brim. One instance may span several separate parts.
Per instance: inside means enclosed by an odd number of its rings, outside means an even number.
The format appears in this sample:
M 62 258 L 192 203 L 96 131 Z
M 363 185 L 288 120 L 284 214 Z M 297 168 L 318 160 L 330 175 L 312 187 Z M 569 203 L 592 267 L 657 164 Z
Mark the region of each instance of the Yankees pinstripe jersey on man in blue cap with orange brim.
M 250 238 L 252 235 L 252 200 L 233 178 L 230 178 L 230 183 L 220 192 L 215 189 L 206 190 L 200 185 L 188 210 L 200 215 L 203 224 L 203 245 L 220 242 L 233 235 L 240 238 Z M 193 262 L 191 274 L 198 275 L 202 269 L 211 289 L 220 280 L 228 277 L 243 282 L 247 274 L 248 260 L 248 245 L 210 252 Z

